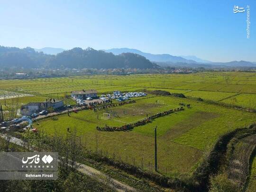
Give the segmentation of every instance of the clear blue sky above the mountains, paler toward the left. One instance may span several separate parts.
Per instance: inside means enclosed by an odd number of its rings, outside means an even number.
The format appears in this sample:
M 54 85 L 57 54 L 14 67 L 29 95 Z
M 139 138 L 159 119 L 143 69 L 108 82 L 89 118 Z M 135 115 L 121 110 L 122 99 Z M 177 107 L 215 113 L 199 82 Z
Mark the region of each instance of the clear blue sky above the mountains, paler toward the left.
M 250 6 L 250 38 L 246 12 Z M 256 0 L 2 0 L 0 45 L 136 48 L 256 62 Z

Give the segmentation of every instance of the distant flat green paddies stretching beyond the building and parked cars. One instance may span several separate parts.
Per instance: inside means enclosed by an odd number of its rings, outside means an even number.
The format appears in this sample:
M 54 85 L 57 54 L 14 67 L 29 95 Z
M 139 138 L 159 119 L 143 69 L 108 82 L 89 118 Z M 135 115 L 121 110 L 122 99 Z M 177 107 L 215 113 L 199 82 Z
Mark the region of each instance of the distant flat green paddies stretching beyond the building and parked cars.
M 41 97 L 64 97 L 74 90 L 96 89 L 100 93 L 120 90 L 161 89 L 232 103 L 230 96 L 240 94 L 236 105 L 255 109 L 256 73 L 205 72 L 192 74 L 88 75 L 31 80 L 0 80 L 1 91 L 32 94 Z M 242 97 L 251 98 L 249 100 Z M 227 100 L 225 100 L 227 99 Z M 11 100 L 11 99 L 9 99 Z M 22 102 L 23 100 L 20 99 Z M 1 104 L 3 101 L 0 100 Z

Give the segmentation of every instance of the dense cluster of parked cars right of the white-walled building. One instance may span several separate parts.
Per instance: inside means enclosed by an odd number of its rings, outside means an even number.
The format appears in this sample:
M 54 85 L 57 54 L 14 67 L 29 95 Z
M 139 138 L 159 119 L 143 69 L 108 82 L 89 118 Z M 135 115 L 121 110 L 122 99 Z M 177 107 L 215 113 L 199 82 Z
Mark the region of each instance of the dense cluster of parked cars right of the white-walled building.
M 125 93 L 119 93 L 119 94 L 106 94 L 106 95 L 101 95 L 100 99 L 102 101 L 104 100 L 109 100 L 109 99 L 115 99 L 117 101 L 125 101 L 129 100 L 132 97 L 144 97 L 147 94 L 144 92 L 125 92 Z

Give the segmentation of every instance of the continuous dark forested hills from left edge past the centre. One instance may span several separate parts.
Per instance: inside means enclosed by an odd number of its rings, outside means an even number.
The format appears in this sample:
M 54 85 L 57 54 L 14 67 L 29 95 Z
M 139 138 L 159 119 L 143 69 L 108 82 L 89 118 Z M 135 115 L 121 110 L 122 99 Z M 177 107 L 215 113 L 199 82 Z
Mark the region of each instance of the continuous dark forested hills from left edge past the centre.
M 57 55 L 46 55 L 33 48 L 0 46 L 0 67 L 23 68 L 154 68 L 157 65 L 144 56 L 124 53 L 113 55 L 92 48 L 73 48 Z

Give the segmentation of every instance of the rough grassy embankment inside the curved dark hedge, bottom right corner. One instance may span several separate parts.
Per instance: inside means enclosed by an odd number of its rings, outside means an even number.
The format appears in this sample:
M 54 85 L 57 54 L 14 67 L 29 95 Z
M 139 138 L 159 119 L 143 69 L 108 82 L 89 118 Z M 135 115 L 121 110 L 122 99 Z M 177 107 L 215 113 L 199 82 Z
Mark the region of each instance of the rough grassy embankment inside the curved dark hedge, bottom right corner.
M 210 191 L 245 191 L 250 176 L 250 160 L 256 146 L 256 126 L 254 124 L 249 128 L 236 129 L 222 138 L 224 140 L 219 142 L 220 150 L 214 150 L 211 153 L 213 158 L 209 161 L 211 174 L 215 174 L 211 177 Z

